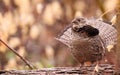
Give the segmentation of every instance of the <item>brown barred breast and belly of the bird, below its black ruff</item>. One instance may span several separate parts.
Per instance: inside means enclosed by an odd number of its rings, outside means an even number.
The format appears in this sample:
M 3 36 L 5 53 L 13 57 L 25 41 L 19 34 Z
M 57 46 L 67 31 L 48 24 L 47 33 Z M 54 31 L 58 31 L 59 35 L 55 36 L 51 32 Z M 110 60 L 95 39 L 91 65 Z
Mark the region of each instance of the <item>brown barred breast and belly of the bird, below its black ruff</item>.
M 104 48 L 98 37 L 83 40 L 73 40 L 71 43 L 71 53 L 80 63 L 101 60 Z

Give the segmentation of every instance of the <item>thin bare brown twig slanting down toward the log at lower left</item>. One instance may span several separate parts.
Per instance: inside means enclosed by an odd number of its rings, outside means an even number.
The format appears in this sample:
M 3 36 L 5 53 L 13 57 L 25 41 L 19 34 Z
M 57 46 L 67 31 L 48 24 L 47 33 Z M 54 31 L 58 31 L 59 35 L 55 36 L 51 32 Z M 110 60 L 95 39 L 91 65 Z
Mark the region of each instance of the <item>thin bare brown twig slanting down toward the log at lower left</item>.
M 13 53 L 15 53 L 21 60 L 23 60 L 23 62 L 30 68 L 33 69 L 33 66 L 25 59 L 23 58 L 21 55 L 19 55 L 17 53 L 17 51 L 13 48 L 11 48 L 7 43 L 5 43 L 1 38 L 0 38 L 0 42 L 2 42 L 5 46 L 7 46 Z

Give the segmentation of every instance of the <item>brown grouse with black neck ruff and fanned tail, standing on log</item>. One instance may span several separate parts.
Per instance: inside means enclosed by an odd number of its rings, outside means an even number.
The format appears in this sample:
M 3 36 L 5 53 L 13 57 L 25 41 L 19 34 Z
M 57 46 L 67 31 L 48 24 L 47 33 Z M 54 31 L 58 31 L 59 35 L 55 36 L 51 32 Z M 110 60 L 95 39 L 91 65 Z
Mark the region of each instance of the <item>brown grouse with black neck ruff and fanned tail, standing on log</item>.
M 116 45 L 117 30 L 111 24 L 96 18 L 77 17 L 61 31 L 56 39 L 70 48 L 81 64 L 99 62 L 109 45 Z

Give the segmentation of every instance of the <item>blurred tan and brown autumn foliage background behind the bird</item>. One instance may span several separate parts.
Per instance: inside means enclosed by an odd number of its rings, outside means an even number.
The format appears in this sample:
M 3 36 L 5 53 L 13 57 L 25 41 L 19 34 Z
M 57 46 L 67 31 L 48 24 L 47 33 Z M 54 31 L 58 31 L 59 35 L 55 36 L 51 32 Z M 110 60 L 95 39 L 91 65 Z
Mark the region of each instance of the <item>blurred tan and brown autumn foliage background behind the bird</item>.
M 0 0 L 0 39 L 37 68 L 79 66 L 69 48 L 54 38 L 72 19 L 110 20 L 120 0 Z M 0 70 L 27 69 L 0 42 Z

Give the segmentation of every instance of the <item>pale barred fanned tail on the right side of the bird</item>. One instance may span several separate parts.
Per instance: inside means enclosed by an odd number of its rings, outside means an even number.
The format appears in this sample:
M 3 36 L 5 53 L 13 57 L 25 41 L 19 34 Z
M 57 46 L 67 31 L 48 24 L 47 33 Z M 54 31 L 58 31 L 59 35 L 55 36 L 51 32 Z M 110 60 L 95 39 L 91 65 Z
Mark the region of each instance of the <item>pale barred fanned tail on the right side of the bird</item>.
M 98 19 L 88 19 L 87 23 L 99 30 L 99 36 L 102 38 L 106 47 L 116 44 L 117 30 L 113 25 L 110 25 Z

